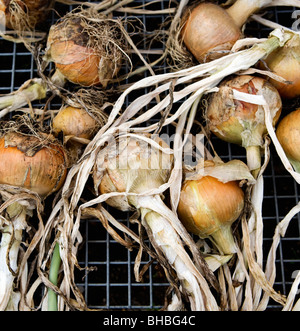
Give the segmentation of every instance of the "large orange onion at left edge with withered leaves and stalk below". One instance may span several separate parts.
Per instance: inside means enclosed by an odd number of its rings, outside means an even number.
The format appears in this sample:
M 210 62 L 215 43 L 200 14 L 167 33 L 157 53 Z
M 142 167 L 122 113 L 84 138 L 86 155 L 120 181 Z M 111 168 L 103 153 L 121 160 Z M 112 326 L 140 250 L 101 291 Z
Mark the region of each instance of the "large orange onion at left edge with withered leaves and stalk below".
M 61 188 L 67 173 L 63 146 L 52 135 L 24 133 L 17 122 L 2 128 L 0 138 L 1 310 L 35 309 L 27 261 L 35 264 L 43 236 L 43 202 Z M 38 229 L 30 224 L 35 210 Z

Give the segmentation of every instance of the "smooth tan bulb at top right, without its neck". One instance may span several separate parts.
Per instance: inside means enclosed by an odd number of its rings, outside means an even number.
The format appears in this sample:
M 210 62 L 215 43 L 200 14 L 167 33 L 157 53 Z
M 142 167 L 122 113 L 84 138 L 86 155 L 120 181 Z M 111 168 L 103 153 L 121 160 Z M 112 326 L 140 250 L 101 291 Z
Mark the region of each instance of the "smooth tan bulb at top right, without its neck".
M 182 39 L 199 62 L 208 62 L 228 53 L 242 36 L 232 17 L 218 5 L 200 3 L 184 23 Z

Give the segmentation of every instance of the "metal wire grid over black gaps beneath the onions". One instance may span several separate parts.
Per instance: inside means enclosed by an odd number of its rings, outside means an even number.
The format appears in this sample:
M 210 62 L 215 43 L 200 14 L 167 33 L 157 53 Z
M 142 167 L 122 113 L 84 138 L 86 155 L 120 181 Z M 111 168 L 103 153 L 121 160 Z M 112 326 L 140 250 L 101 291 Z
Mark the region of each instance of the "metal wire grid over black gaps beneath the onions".
M 136 5 L 144 5 L 150 1 L 135 1 Z M 156 2 L 158 9 L 168 8 L 169 0 Z M 71 10 L 72 6 L 57 4 L 56 10 L 63 15 Z M 271 8 L 268 16 L 287 27 L 293 23 L 293 8 Z M 146 31 L 152 31 L 160 26 L 167 16 L 138 15 L 138 19 Z M 53 13 L 51 22 L 57 19 Z M 270 32 L 256 22 L 247 26 L 247 35 L 265 37 Z M 162 44 L 154 45 L 162 50 Z M 139 45 L 143 48 L 143 45 Z M 155 68 L 161 69 L 161 68 Z M 162 68 L 167 70 L 166 67 Z M 0 93 L 9 93 L 18 89 L 29 78 L 36 77 L 36 67 L 31 54 L 22 44 L 14 44 L 0 38 Z M 146 73 L 145 73 L 146 75 Z M 145 91 L 146 92 L 146 91 Z M 127 100 L 129 103 L 130 100 Z M 299 102 L 298 102 L 299 105 Z M 59 106 L 52 102 L 52 107 Z M 286 104 L 283 114 L 295 109 L 296 105 Z M 214 146 L 220 157 L 226 161 L 237 158 L 245 160 L 244 150 L 213 138 Z M 286 172 L 271 147 L 271 160 L 265 172 L 265 197 L 263 204 L 264 217 L 264 252 L 268 252 L 276 224 L 299 201 L 299 187 Z M 116 219 L 125 222 L 130 228 L 128 215 L 110 210 Z M 162 269 L 155 263 L 150 265 L 144 275 L 143 282 L 137 283 L 133 275 L 133 265 L 136 251 L 128 251 L 116 243 L 104 230 L 97 220 L 84 220 L 81 226 L 84 243 L 79 251 L 79 263 L 82 267 L 95 268 L 87 272 L 84 277 L 78 274 L 78 285 L 82 289 L 88 306 L 92 309 L 159 309 L 164 304 L 164 294 L 168 288 Z M 142 264 L 149 262 L 144 256 Z M 293 272 L 300 270 L 300 216 L 292 220 L 285 238 L 280 242 L 277 250 L 277 278 L 275 289 L 287 294 L 293 282 Z M 269 309 L 279 306 L 270 301 Z

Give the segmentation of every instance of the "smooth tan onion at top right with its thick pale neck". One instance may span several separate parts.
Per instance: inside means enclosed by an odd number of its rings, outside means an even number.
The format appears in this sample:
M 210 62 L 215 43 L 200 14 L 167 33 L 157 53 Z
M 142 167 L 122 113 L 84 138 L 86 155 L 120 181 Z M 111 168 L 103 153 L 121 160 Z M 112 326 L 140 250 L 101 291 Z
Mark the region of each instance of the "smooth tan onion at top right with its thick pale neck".
M 296 1 L 285 5 L 296 5 Z M 261 8 L 282 5 L 272 0 L 237 0 L 224 9 L 217 4 L 200 2 L 188 8 L 182 22 L 182 40 L 199 62 L 221 57 L 242 37 L 242 26 Z M 298 3 L 299 6 L 299 3 Z

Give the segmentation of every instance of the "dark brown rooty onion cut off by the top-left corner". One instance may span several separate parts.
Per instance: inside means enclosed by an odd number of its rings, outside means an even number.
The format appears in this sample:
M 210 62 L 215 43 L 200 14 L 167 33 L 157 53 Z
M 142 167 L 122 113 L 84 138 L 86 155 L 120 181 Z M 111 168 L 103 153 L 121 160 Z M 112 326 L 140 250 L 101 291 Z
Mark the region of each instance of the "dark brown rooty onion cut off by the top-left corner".
M 49 14 L 49 9 L 52 8 L 54 1 L 52 0 L 0 0 L 0 12 L 5 14 L 6 27 L 9 29 L 14 28 L 15 17 L 10 10 L 12 3 L 19 6 L 28 15 L 28 24 L 33 28 L 36 25 L 43 23 L 47 15 Z

